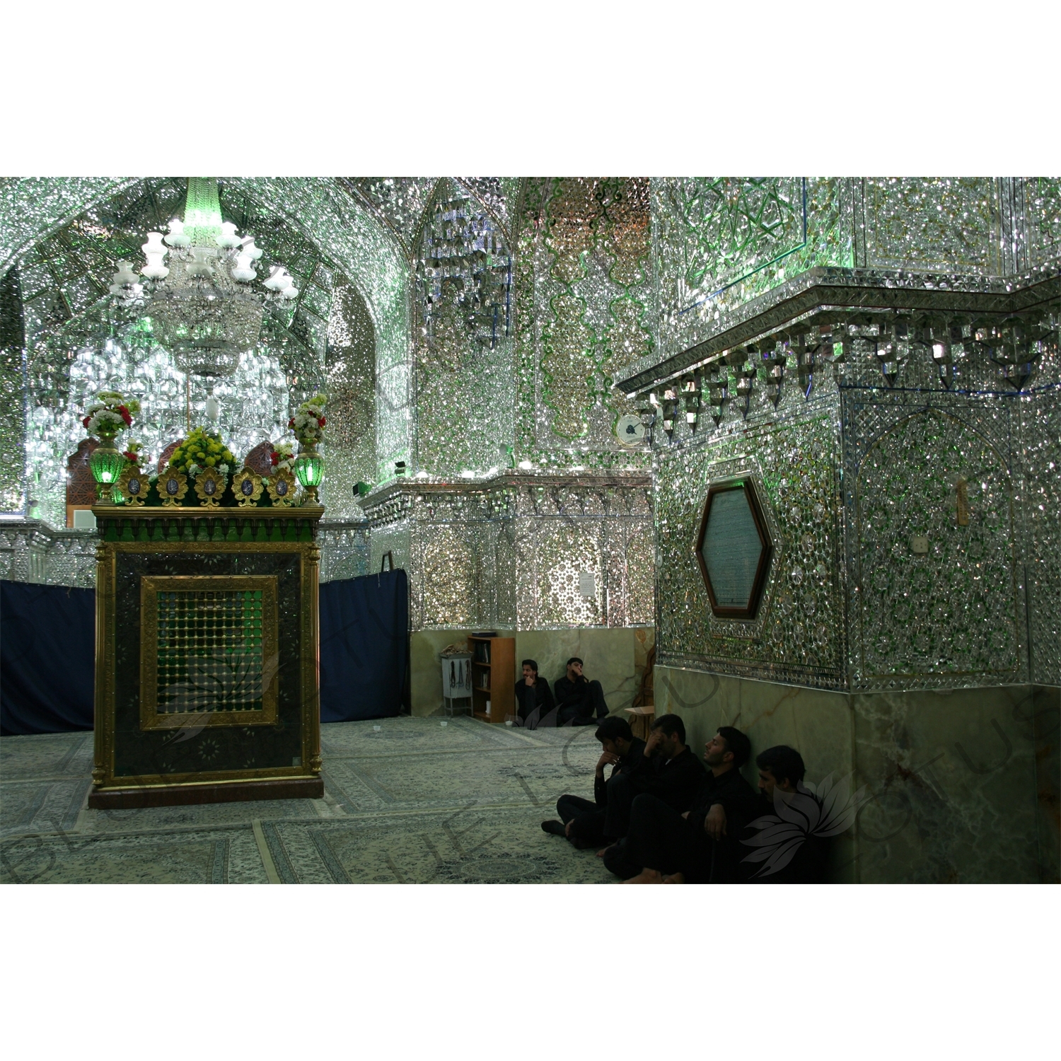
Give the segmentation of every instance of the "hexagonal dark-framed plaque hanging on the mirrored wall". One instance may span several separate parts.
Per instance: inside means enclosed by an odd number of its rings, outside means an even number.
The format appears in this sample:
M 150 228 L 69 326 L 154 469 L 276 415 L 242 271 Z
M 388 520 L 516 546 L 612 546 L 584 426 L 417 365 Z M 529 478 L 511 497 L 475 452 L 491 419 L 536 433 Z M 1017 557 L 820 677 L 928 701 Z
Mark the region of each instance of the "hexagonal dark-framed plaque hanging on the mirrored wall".
M 708 489 L 696 535 L 696 562 L 719 619 L 754 619 L 773 552 L 750 477 Z

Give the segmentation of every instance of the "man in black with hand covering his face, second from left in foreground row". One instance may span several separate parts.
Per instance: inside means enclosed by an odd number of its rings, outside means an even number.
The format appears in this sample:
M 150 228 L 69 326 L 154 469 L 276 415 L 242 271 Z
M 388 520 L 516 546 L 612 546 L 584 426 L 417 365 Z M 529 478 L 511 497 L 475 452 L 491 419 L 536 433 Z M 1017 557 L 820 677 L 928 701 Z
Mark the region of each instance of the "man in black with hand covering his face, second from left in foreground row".
M 703 764 L 685 745 L 685 724 L 678 715 L 661 715 L 653 723 L 641 762 L 608 792 L 609 801 L 618 802 L 616 813 L 622 814 L 627 825 L 619 835 L 628 836 L 638 799 L 654 799 L 675 815 L 689 811 L 705 777 Z M 630 876 L 640 869 L 638 864 L 630 872 L 621 872 L 630 865 L 627 842 L 620 840 L 598 852 L 608 869 L 620 876 Z

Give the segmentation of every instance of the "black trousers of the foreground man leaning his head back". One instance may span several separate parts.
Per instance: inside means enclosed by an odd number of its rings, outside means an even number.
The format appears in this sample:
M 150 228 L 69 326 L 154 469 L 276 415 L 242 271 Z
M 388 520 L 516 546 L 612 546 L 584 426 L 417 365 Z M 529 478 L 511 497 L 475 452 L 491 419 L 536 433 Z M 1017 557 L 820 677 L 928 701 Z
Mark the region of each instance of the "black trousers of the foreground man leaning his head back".
M 636 876 L 642 869 L 683 873 L 693 883 L 711 880 L 713 840 L 701 819 L 690 821 L 658 796 L 642 794 L 630 806 L 626 840 L 605 855 L 605 865 L 618 876 Z

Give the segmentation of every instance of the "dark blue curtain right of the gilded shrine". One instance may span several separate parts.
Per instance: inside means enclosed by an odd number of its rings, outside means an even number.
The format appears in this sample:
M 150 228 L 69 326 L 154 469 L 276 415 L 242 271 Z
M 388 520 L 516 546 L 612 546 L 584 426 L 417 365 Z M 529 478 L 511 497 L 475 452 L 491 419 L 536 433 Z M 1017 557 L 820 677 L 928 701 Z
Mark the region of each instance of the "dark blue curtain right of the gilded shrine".
M 320 587 L 320 720 L 401 710 L 408 666 L 408 579 L 400 568 Z

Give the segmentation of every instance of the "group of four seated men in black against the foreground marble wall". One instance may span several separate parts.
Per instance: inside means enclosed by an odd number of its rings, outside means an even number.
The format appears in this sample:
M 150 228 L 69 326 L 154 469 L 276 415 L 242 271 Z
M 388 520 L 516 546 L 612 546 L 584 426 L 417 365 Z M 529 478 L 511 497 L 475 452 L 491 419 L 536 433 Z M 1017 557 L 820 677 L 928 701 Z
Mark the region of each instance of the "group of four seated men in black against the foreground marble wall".
M 818 883 L 824 880 L 824 841 L 810 836 L 783 867 L 763 873 L 762 856 L 747 840 L 753 822 L 775 814 L 775 789 L 795 794 L 803 759 L 778 745 L 755 758 L 759 793 L 742 777 L 751 742 L 723 726 L 705 747 L 702 762 L 685 744 L 678 715 L 657 718 L 648 740 L 634 737 L 625 718 L 597 727 L 603 752 L 593 779 L 594 800 L 561 796 L 560 820 L 546 833 L 576 848 L 602 848 L 598 856 L 627 884 Z M 605 767 L 611 765 L 606 780 Z M 782 799 L 784 797 L 781 797 Z M 780 859 L 779 859 L 780 862 Z

